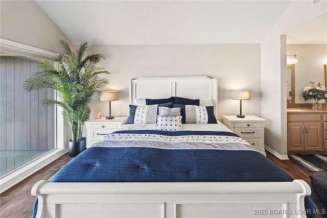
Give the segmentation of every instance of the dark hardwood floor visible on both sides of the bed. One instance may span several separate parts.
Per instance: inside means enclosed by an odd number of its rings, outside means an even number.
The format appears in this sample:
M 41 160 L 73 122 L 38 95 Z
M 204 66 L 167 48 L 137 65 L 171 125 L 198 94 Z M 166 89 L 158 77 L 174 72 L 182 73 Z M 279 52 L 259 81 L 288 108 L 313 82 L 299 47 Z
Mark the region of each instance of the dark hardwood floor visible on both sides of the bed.
M 279 160 L 274 155 L 267 152 L 267 157 L 279 167 L 283 168 L 294 179 L 305 180 L 310 185 L 309 176 L 312 174 L 296 165 L 290 160 Z M 54 175 L 61 166 L 72 158 L 68 153 L 58 158 L 51 164 L 40 169 L 32 176 L 21 181 L 14 187 L 6 190 L 0 195 L 0 217 L 20 218 L 32 217 L 35 197 L 31 196 L 32 186 L 39 180 L 47 180 Z

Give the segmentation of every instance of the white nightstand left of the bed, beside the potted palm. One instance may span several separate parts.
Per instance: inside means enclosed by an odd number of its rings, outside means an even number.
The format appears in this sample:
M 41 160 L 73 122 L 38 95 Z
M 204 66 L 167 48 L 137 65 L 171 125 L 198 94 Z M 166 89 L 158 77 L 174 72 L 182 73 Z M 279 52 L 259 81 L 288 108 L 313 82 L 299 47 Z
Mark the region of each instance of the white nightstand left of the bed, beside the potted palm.
M 127 118 L 114 117 L 113 119 L 106 119 L 106 117 L 102 117 L 101 119 L 95 118 L 86 121 L 86 148 L 91 147 L 94 143 L 103 139 L 105 135 L 116 131 L 126 123 Z

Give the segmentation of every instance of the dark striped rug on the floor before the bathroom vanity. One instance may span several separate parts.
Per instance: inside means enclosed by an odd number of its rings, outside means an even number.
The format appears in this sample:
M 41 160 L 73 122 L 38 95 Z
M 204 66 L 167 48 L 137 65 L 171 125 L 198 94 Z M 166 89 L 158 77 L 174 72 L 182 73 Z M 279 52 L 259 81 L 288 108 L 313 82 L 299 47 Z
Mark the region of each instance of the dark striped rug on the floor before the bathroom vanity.
M 327 155 L 310 154 L 310 155 L 289 155 L 297 165 L 305 168 L 309 172 L 327 171 Z

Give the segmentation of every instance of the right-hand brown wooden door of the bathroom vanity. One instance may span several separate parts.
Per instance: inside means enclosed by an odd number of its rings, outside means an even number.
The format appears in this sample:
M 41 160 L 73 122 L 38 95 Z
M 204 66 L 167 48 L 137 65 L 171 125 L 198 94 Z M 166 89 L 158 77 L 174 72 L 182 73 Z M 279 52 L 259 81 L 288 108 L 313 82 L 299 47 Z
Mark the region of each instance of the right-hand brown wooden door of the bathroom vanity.
M 322 148 L 322 124 L 305 123 L 305 151 L 317 151 Z

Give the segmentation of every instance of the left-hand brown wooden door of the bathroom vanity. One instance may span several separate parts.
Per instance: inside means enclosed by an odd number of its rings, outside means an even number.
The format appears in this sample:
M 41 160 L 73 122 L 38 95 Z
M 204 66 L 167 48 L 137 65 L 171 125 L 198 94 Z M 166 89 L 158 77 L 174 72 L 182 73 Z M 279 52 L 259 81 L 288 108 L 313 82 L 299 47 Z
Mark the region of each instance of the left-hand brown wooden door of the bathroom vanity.
M 304 151 L 305 136 L 302 133 L 303 123 L 287 124 L 287 150 L 288 151 Z

